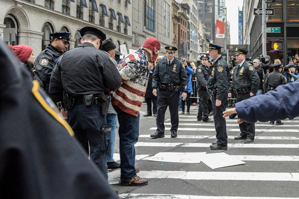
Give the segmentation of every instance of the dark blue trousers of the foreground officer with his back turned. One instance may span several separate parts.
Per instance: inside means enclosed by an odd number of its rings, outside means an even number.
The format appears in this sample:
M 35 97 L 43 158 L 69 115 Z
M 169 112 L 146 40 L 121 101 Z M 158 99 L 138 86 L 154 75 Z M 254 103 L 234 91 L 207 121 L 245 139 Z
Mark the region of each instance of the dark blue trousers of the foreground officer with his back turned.
M 102 131 L 102 125 L 106 125 L 106 117 L 101 114 L 99 105 L 93 104 L 91 107 L 85 107 L 84 104 L 75 105 L 68 110 L 67 122 L 83 147 L 87 141 L 89 142 L 90 159 L 108 179 L 106 157 L 110 132 Z

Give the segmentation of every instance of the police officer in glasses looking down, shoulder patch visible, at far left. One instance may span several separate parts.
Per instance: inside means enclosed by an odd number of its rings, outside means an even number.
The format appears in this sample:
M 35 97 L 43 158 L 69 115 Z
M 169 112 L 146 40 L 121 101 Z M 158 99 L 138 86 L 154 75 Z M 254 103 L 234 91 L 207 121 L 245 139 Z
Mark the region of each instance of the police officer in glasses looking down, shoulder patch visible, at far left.
M 52 43 L 46 46 L 46 49 L 39 53 L 34 61 L 36 72 L 41 78 L 47 93 L 49 92 L 49 83 L 54 68 L 54 61 L 63 55 L 65 49 L 68 48 L 71 33 L 50 33 L 50 37 L 52 37 Z

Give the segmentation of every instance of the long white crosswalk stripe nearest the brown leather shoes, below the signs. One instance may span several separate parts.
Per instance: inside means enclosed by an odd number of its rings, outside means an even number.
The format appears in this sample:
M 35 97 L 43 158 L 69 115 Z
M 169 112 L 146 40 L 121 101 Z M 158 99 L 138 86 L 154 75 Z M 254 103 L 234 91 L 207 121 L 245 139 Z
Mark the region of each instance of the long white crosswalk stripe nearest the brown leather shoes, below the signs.
M 251 180 L 251 181 L 299 181 L 299 173 L 271 172 L 193 172 L 193 171 L 140 171 L 142 178 L 172 178 L 184 180 Z M 120 169 L 109 172 L 119 177 Z

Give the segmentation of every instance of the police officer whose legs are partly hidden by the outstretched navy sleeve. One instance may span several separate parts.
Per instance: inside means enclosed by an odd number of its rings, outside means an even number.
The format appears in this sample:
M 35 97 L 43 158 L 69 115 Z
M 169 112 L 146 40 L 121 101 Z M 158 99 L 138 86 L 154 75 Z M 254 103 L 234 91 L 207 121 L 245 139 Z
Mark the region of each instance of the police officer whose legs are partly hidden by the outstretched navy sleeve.
M 234 92 L 236 102 L 245 100 L 257 93 L 260 86 L 260 78 L 255 70 L 255 67 L 245 60 L 247 51 L 242 48 L 236 48 L 235 55 L 237 66 L 234 68 L 233 80 L 228 91 L 228 97 Z M 243 122 L 239 124 L 240 135 L 235 137 L 235 140 L 245 140 L 244 143 L 254 141 L 255 126 L 254 123 Z

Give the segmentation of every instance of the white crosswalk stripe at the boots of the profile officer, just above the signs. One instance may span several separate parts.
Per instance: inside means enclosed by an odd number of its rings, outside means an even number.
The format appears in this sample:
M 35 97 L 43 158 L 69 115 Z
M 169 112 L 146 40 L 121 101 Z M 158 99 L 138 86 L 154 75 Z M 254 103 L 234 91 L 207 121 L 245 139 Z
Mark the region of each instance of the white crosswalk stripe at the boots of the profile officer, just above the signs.
M 137 142 L 137 146 L 166 146 L 166 147 L 210 147 L 209 143 L 166 143 L 166 142 Z M 299 144 L 228 144 L 231 148 L 299 148 Z

